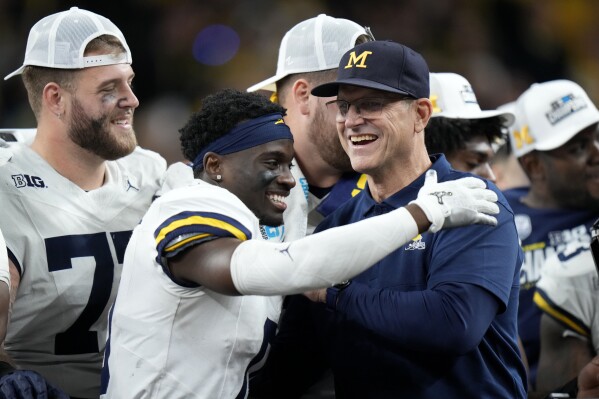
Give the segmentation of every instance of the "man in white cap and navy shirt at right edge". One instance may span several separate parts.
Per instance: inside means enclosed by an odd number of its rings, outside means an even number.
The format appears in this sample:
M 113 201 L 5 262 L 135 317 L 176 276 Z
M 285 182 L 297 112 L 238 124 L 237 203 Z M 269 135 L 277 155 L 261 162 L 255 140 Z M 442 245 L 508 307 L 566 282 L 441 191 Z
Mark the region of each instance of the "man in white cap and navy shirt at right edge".
M 569 80 L 533 84 L 516 102 L 518 125 L 510 130 L 512 149 L 530 187 L 505 191 L 512 206 L 525 259 L 520 278 L 519 334 L 537 391 L 573 378 L 564 375 L 566 359 L 546 364 L 550 374 L 537 378 L 540 329 L 550 327 L 571 337 L 571 327 L 552 314 L 549 296 L 535 294 L 546 258 L 577 242 L 588 246 L 589 229 L 599 215 L 599 111 L 587 93 Z M 568 255 L 570 257 L 572 254 Z M 562 259 L 564 260 L 564 259 Z M 561 289 L 561 284 L 555 288 Z M 541 307 L 535 306 L 535 302 Z M 568 341 L 570 338 L 562 339 Z M 562 344 L 560 344 L 562 345 Z M 555 359 L 554 359 L 555 360 Z M 545 375 L 546 377 L 542 377 Z

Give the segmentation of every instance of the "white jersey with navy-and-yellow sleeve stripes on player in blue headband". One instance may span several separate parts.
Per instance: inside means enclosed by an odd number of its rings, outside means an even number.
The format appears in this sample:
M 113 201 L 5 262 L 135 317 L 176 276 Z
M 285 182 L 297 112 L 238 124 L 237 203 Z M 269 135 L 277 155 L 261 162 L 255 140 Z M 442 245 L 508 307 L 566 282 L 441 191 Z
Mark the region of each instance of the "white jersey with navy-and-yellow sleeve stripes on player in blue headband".
M 229 191 L 195 180 L 157 199 L 135 228 L 111 311 L 106 398 L 245 398 L 282 297 L 227 296 L 171 279 L 165 256 L 220 237 L 261 239 Z

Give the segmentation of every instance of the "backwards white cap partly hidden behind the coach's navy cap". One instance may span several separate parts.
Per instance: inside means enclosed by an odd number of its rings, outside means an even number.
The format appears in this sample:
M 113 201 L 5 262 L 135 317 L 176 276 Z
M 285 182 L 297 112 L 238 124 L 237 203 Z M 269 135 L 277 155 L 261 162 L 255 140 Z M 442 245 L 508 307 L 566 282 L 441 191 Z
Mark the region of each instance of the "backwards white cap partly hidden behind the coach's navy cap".
M 341 57 L 356 45 L 358 37 L 370 35 L 366 29 L 348 19 L 325 14 L 300 22 L 283 36 L 277 74 L 247 91 L 276 91 L 276 82 L 287 75 L 338 68 Z

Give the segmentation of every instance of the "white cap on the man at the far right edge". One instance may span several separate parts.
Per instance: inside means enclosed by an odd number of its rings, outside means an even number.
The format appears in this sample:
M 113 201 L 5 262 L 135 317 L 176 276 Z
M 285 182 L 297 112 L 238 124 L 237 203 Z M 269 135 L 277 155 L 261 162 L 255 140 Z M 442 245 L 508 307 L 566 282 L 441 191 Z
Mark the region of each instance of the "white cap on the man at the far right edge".
M 599 111 L 587 93 L 570 80 L 535 83 L 516 101 L 518 126 L 510 129 L 516 157 L 566 144 L 599 122 Z

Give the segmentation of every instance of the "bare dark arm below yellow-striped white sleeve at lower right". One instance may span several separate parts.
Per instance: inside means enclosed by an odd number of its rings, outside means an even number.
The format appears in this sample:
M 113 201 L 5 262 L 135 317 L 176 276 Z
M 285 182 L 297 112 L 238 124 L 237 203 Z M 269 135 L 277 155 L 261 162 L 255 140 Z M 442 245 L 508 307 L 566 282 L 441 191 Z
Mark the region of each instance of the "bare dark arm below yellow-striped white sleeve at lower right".
M 576 378 L 594 354 L 588 339 L 543 313 L 536 390 L 549 393 Z

